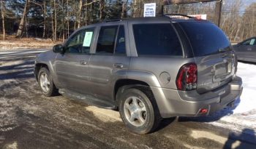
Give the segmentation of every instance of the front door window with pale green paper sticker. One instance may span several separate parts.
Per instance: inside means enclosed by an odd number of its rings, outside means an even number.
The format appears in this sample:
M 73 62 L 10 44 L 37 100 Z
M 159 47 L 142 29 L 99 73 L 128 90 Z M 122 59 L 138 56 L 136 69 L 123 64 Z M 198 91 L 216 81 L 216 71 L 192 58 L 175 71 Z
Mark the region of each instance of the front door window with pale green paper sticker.
M 65 52 L 89 54 L 94 28 L 78 31 L 67 41 Z

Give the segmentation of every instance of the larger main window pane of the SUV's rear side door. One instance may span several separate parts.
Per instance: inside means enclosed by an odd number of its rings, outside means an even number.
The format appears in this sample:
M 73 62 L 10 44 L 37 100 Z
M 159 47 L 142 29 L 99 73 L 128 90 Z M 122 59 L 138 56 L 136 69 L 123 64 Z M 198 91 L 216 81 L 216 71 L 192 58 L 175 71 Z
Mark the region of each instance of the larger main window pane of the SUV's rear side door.
M 97 42 L 97 54 L 113 54 L 118 26 L 104 26 L 100 28 Z

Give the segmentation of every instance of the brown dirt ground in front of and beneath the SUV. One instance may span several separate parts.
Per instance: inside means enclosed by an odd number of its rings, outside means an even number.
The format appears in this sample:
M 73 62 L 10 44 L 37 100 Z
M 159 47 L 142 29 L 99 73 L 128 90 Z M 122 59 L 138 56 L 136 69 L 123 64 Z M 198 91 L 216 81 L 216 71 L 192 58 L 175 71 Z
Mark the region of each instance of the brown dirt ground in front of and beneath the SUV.
M 117 111 L 63 96 L 44 97 L 34 53 L 0 52 L 0 148 L 256 148 L 255 136 L 189 118 L 167 118 L 156 132 L 129 132 Z

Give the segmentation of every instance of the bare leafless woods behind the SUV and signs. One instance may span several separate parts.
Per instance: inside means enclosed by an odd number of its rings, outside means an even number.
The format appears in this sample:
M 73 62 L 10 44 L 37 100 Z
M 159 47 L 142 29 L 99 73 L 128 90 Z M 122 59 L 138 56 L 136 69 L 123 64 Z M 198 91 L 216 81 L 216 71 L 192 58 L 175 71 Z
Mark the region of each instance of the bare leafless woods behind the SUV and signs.
M 83 25 L 106 19 L 143 17 L 145 3 L 159 0 L 0 0 L 1 37 L 34 37 L 64 40 Z M 170 4 L 164 13 L 206 14 L 214 20 L 215 1 L 196 4 Z M 157 9 L 159 9 L 157 7 Z M 157 11 L 158 12 L 158 11 Z M 256 36 L 256 3 L 224 0 L 220 28 L 230 41 Z

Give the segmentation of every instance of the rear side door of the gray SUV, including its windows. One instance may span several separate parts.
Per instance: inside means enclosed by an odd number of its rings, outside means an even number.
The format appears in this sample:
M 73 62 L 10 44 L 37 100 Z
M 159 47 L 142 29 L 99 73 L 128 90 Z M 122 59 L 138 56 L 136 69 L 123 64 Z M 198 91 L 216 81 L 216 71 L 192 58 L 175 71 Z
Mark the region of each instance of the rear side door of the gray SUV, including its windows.
M 91 91 L 95 97 L 113 99 L 114 82 L 127 77 L 129 57 L 127 57 L 127 34 L 124 25 L 100 27 L 94 55 L 89 65 Z

